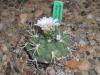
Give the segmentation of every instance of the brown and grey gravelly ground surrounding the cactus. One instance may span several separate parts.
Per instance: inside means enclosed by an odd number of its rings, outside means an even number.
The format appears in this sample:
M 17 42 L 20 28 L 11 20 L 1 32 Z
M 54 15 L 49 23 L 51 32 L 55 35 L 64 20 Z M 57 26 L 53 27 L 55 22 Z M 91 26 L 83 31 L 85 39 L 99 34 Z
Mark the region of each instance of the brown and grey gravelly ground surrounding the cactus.
M 55 64 L 29 60 L 21 48 L 27 30 L 52 16 L 50 0 L 0 0 L 0 75 L 100 75 L 100 0 L 64 0 L 63 30 L 72 39 L 65 59 Z

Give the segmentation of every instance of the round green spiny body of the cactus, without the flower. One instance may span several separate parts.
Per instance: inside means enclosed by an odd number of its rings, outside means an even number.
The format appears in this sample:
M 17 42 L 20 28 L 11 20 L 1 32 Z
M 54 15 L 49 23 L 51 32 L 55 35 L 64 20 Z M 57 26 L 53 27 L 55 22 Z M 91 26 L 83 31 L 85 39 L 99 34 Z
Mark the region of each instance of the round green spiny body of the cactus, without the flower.
M 43 35 L 29 37 L 29 42 L 26 46 L 27 51 L 39 62 L 50 63 L 54 58 L 64 57 L 67 54 L 67 47 L 70 45 L 70 38 L 69 35 L 64 33 L 61 36 L 62 41 L 57 41 L 55 38 L 48 39 Z M 54 54 L 53 57 L 52 53 Z

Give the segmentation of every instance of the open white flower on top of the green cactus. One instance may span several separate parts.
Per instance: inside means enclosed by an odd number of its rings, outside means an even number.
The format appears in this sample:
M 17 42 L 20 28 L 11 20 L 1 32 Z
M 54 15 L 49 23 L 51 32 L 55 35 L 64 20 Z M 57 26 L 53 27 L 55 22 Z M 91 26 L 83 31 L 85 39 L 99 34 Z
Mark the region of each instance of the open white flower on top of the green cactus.
M 54 26 L 59 26 L 60 24 L 57 22 L 57 20 L 54 20 L 52 17 L 49 17 L 49 18 L 43 17 L 43 18 L 40 18 L 37 21 L 37 24 L 35 25 L 41 27 L 42 30 L 46 30 Z

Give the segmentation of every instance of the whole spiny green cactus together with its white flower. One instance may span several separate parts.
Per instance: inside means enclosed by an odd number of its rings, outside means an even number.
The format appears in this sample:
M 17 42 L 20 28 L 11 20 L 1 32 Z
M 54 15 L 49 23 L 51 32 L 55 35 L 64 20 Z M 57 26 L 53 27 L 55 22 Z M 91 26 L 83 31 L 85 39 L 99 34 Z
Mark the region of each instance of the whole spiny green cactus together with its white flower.
M 70 38 L 61 31 L 60 23 L 53 18 L 43 17 L 37 21 L 37 33 L 29 32 L 27 52 L 39 62 L 52 62 L 52 60 L 66 56 Z

